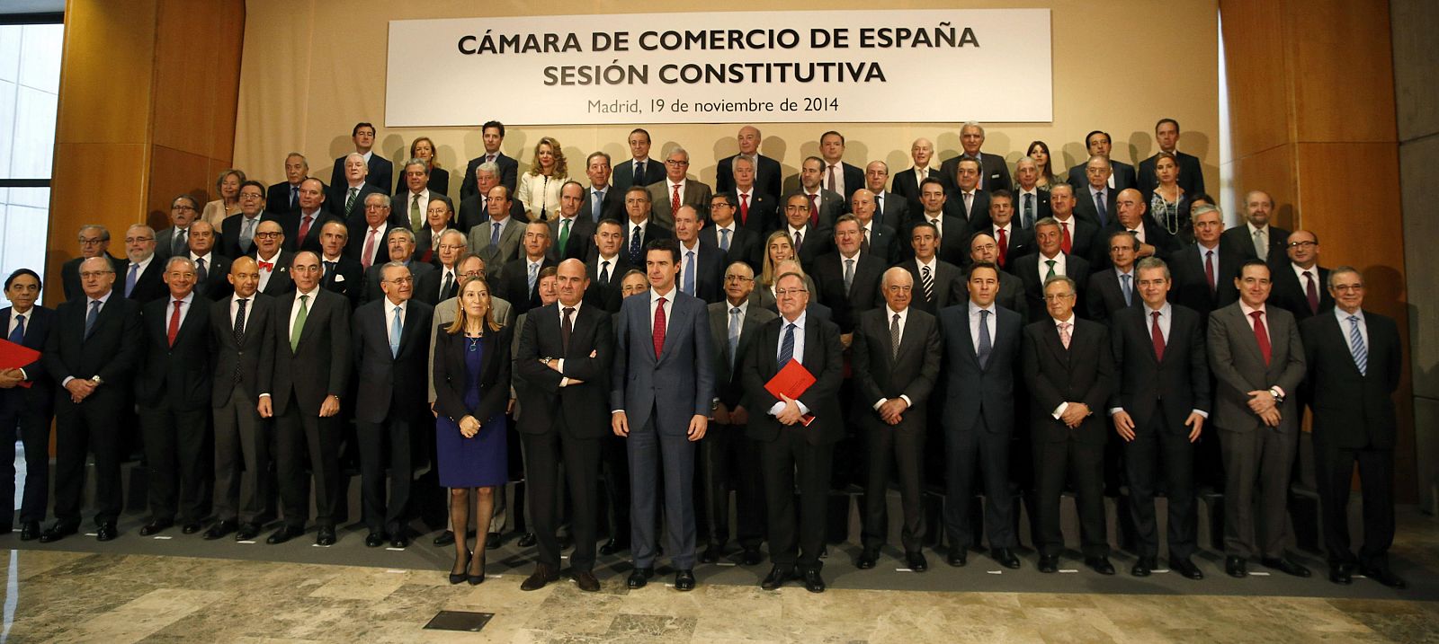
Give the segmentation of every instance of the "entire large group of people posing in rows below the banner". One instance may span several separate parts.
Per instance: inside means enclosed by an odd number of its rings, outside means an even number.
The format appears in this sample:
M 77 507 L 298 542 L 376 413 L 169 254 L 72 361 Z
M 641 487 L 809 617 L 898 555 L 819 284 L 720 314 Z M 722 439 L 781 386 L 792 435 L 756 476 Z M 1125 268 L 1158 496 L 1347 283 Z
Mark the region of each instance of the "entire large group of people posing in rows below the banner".
M 597 555 L 629 551 L 629 588 L 668 555 L 688 591 L 696 565 L 760 565 L 767 543 L 763 588 L 822 592 L 827 526 L 849 509 L 835 492 L 861 499 L 866 569 L 891 482 L 917 572 L 934 533 L 951 566 L 987 545 L 1020 568 L 1022 506 L 1036 568 L 1058 571 L 1072 489 L 1086 566 L 1115 574 L 1105 496 L 1127 490 L 1130 574 L 1160 568 L 1163 494 L 1167 565 L 1202 579 L 1207 486 L 1226 574 L 1258 559 L 1308 576 L 1285 549 L 1308 411 L 1330 579 L 1404 585 L 1387 562 L 1396 325 L 1363 308 L 1361 272 L 1320 266 L 1314 233 L 1272 226 L 1266 193 L 1225 230 L 1173 119 L 1137 168 L 1101 131 L 1066 171 L 1042 141 L 1010 167 L 970 122 L 961 154 L 941 162 L 921 138 L 896 172 L 846 162 L 829 131 L 791 177 L 744 126 L 714 187 L 679 147 L 652 158 L 639 128 L 630 158 L 590 154 L 584 180 L 550 137 L 521 171 L 488 122 L 455 194 L 429 138 L 397 180 L 373 125 L 353 138 L 328 184 L 298 152 L 268 187 L 226 170 L 217 200 L 181 194 L 168 227 L 127 229 L 124 257 L 82 227 L 55 310 L 33 270 L 6 279 L 0 331 L 40 355 L 0 371 L 6 503 L 17 438 L 27 459 L 20 539 L 79 530 L 91 457 L 95 533 L 115 539 L 135 450 L 142 536 L 252 540 L 275 523 L 265 540 L 282 543 L 312 523 L 331 545 L 354 454 L 367 546 L 409 546 L 449 490 L 435 542 L 453 543 L 453 584 L 485 579 L 522 507 L 524 589 L 557 581 L 570 543 L 581 591 L 600 589 Z M 927 487 L 945 499 L 937 526 Z

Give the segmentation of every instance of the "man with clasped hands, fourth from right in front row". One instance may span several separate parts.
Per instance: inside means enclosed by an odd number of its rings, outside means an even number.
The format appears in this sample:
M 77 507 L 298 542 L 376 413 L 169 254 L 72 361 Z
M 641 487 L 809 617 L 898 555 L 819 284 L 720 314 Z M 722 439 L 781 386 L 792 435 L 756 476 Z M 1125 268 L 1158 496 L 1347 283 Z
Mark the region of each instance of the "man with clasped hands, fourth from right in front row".
M 1104 443 L 1108 427 L 1104 404 L 1114 392 L 1114 354 L 1109 332 L 1098 322 L 1073 315 L 1075 280 L 1055 275 L 1045 280 L 1045 313 L 1025 326 L 1023 374 L 1029 388 L 1030 433 L 1035 450 L 1035 489 L 1039 499 L 1039 572 L 1059 569 L 1063 533 L 1059 494 L 1075 482 L 1084 562 L 1112 575 L 1104 518 Z

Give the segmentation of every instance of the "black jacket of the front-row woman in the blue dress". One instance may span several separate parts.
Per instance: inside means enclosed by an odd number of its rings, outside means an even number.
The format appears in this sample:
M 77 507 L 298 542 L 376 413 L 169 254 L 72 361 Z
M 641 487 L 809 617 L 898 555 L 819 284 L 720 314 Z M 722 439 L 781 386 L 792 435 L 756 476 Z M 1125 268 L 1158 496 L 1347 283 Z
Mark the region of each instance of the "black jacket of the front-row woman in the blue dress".
M 469 342 L 463 334 L 450 335 L 445 331 L 446 326 L 449 325 L 439 325 L 435 331 L 435 411 L 456 424 L 466 415 L 485 423 L 495 414 L 502 414 L 509 402 L 509 344 L 514 328 L 486 331 L 481 338 L 485 352 L 479 371 L 481 397 L 479 405 L 469 407 L 465 404 L 465 354 Z

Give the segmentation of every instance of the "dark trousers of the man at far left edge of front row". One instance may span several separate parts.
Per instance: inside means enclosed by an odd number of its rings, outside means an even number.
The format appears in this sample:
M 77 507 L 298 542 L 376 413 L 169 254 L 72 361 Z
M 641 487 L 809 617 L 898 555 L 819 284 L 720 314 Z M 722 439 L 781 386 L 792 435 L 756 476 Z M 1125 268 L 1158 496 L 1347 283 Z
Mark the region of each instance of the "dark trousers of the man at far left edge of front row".
M 7 398 L 19 398 L 7 397 Z M 24 446 L 24 496 L 20 520 L 45 520 L 50 484 L 50 414 L 7 400 L 0 408 L 0 528 L 14 518 L 14 441 Z

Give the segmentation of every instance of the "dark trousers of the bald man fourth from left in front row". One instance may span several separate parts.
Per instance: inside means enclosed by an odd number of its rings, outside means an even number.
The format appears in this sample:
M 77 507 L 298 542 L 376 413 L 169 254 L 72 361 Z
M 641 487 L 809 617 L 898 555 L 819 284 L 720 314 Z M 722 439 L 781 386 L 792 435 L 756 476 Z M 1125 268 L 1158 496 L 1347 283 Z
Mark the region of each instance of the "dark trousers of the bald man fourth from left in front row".
M 271 496 L 271 426 L 243 387 L 214 408 L 214 516 L 255 523 Z

